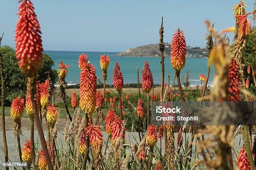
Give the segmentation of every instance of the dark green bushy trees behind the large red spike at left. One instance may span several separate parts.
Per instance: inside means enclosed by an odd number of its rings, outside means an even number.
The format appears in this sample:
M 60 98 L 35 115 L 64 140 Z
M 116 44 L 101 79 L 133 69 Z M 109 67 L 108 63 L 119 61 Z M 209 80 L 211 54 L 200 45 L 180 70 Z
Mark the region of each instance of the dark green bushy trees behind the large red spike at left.
M 5 67 L 5 95 L 6 105 L 10 105 L 10 102 L 14 97 L 25 96 L 26 94 L 26 78 L 23 72 L 18 67 L 18 60 L 15 57 L 15 50 L 9 46 L 1 47 L 3 53 L 3 65 Z M 44 81 L 47 78 L 45 72 L 50 70 L 51 80 L 56 81 L 57 72 L 51 69 L 54 65 L 54 61 L 50 55 L 43 54 L 43 61 L 39 70 L 39 81 Z M 1 82 L 0 82 L 1 84 Z

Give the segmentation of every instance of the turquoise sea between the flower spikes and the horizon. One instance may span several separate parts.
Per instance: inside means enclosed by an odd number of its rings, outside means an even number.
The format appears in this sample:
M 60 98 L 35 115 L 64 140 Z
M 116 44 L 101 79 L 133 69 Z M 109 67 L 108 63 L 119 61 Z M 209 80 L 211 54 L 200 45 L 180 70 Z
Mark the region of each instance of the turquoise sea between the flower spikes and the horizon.
M 66 81 L 69 85 L 79 84 L 78 58 L 79 55 L 84 53 L 87 55 L 88 60 L 96 68 L 96 76 L 101 76 L 100 68 L 100 55 L 104 52 L 77 52 L 77 51 L 44 51 L 46 54 L 51 55 L 54 60 L 54 69 L 58 69 L 59 61 L 69 64 L 69 73 L 67 74 Z M 110 65 L 108 67 L 108 84 L 112 84 L 113 70 L 115 62 L 120 65 L 121 72 L 123 73 L 124 83 L 137 83 L 137 67 L 139 67 L 139 76 L 141 79 L 141 70 L 146 61 L 149 62 L 151 72 L 153 74 L 154 84 L 161 84 L 161 63 L 160 57 L 119 57 L 115 56 L 117 52 L 106 52 L 110 56 Z M 186 58 L 185 67 L 181 70 L 182 82 L 185 81 L 187 71 L 189 71 L 189 83 L 191 86 L 200 85 L 199 74 L 207 74 L 207 58 Z M 170 57 L 165 57 L 165 80 L 168 82 L 168 75 L 170 75 L 170 85 L 172 85 L 174 78 L 174 69 L 172 68 Z M 209 85 L 212 84 L 214 70 L 211 67 Z

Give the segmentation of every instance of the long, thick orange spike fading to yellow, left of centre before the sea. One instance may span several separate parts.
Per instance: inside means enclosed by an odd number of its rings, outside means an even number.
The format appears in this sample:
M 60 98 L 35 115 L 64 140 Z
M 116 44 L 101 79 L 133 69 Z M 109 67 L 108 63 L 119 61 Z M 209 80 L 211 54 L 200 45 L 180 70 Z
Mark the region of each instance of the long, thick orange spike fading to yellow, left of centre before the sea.
M 89 116 L 96 107 L 97 77 L 95 72 L 94 65 L 89 62 L 80 73 L 80 107 Z

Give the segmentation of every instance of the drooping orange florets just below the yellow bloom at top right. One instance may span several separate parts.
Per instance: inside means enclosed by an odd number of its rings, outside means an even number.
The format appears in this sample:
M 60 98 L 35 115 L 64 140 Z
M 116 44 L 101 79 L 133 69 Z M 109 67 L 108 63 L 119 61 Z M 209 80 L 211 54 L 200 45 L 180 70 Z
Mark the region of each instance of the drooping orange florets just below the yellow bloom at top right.
M 245 37 L 249 32 L 251 32 L 251 23 L 248 20 L 247 15 L 237 15 L 236 18 L 238 18 L 238 22 L 236 22 L 236 24 L 240 25 L 239 35 Z

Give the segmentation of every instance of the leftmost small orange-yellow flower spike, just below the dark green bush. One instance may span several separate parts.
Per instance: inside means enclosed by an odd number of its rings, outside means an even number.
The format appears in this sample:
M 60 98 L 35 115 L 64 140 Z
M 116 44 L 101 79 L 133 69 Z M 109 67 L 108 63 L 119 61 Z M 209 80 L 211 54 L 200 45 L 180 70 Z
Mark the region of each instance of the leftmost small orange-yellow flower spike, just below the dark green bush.
M 13 120 L 20 119 L 24 110 L 24 99 L 22 97 L 14 98 L 10 108 L 10 116 Z

